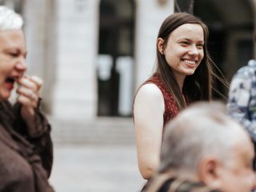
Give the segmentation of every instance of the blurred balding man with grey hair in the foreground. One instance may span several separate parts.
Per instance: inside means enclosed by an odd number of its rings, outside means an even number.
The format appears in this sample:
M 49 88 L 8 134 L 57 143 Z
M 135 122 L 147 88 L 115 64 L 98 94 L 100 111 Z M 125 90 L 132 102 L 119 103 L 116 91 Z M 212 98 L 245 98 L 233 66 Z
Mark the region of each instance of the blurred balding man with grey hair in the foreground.
M 183 110 L 166 126 L 158 173 L 146 192 L 250 192 L 254 147 L 218 102 Z

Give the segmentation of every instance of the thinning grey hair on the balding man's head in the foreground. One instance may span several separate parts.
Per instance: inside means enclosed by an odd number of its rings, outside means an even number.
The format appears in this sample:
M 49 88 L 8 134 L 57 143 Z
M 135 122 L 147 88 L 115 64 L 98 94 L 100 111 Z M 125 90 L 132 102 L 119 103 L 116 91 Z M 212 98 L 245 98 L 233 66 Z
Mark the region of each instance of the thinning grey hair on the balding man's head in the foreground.
M 178 170 L 195 174 L 202 158 L 214 155 L 225 164 L 238 140 L 249 136 L 218 102 L 201 102 L 182 111 L 166 126 L 159 172 Z

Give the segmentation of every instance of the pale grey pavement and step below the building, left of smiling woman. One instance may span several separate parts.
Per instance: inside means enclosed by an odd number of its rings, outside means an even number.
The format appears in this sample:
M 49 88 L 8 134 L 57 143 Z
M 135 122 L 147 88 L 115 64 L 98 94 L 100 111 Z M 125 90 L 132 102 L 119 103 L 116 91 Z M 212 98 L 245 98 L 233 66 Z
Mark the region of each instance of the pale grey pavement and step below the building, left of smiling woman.
M 145 182 L 138 171 L 130 118 L 65 122 L 50 118 L 57 192 L 132 192 Z

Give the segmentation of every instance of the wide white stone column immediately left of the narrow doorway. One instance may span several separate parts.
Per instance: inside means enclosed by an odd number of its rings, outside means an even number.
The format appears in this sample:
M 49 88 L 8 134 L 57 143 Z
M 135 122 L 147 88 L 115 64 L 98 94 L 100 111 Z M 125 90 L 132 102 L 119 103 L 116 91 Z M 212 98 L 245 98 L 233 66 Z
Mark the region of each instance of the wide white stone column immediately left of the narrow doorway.
M 57 74 L 53 115 L 64 119 L 96 117 L 95 60 L 98 0 L 57 0 Z

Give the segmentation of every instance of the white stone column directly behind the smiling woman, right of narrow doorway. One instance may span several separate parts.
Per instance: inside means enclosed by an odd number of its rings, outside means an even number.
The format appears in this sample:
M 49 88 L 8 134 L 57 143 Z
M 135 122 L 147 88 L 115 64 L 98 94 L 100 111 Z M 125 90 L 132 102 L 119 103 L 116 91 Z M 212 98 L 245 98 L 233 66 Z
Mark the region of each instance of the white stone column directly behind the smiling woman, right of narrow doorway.
M 156 60 L 156 38 L 163 20 L 174 13 L 174 0 L 137 0 L 135 88 L 152 74 Z

